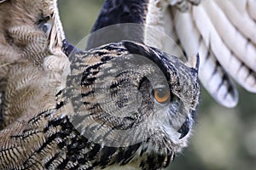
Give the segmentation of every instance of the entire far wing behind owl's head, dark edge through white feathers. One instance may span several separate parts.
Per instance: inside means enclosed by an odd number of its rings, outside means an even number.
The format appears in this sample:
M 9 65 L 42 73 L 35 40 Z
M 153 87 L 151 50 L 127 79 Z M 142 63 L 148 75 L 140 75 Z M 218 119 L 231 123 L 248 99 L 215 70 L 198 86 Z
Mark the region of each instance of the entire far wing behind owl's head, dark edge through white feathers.
M 161 33 L 172 37 L 187 59 L 200 54 L 200 79 L 209 94 L 221 105 L 234 107 L 238 93 L 230 77 L 256 93 L 255 11 L 253 0 L 106 0 L 92 31 L 139 23 L 143 25 L 143 42 L 171 51 L 174 48 L 168 47 Z M 132 14 L 140 18 L 133 20 Z

